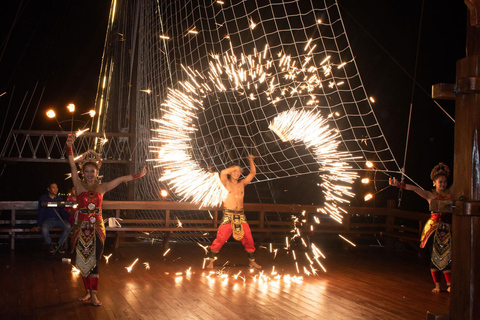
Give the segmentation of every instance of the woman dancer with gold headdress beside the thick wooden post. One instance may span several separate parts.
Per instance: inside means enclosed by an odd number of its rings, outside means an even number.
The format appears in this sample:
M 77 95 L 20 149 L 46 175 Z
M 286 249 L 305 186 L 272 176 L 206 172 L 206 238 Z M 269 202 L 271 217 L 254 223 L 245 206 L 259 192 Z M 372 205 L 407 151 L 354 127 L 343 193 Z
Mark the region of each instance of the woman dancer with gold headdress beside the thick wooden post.
M 419 196 L 426 199 L 428 203 L 432 199 L 450 200 L 450 191 L 447 189 L 447 178 L 450 169 L 443 163 L 436 165 L 430 173 L 435 189 L 425 191 L 411 184 L 398 182 L 395 178 L 389 179 L 392 186 L 401 189 L 415 191 Z M 420 247 L 427 247 L 431 253 L 430 271 L 432 273 L 435 288 L 432 292 L 440 292 L 440 276 L 443 272 L 450 292 L 450 272 L 451 272 L 451 247 L 452 247 L 452 214 L 432 212 L 430 219 L 425 223 L 422 237 L 420 239 Z

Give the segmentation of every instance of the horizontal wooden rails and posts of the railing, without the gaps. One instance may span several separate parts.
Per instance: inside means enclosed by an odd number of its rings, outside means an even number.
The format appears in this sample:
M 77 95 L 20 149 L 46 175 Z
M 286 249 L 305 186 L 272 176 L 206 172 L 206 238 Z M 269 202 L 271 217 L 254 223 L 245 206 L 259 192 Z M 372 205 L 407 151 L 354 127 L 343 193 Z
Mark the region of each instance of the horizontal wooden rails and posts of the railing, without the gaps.
M 135 211 L 135 210 L 158 210 L 164 211 L 165 217 L 160 219 L 141 219 L 132 218 L 124 219 L 122 228 L 110 228 L 107 227 L 107 231 L 116 233 L 116 245 L 119 237 L 136 236 L 137 232 L 143 231 L 162 231 L 169 237 L 172 233 L 185 232 L 185 231 L 213 231 L 218 227 L 219 211 L 220 207 L 202 207 L 189 202 L 172 202 L 172 201 L 104 201 L 102 205 L 104 210 L 113 210 L 114 216 L 119 218 L 122 211 Z M 1 220 L 2 224 L 8 224 L 10 222 L 10 229 L 14 229 L 14 232 L 9 229 L 3 229 L 4 232 L 9 231 L 12 241 L 12 249 L 14 248 L 15 232 L 19 232 L 15 227 L 15 224 L 21 224 L 20 220 L 16 219 L 18 211 L 36 211 L 38 208 L 38 201 L 0 201 L 0 210 L 11 211 L 10 220 Z M 337 224 L 333 220 L 322 222 L 320 225 L 314 224 L 313 219 L 309 219 L 309 215 L 318 214 L 317 206 L 312 205 L 292 205 L 292 204 L 261 204 L 261 203 L 245 203 L 244 210 L 247 214 L 247 219 L 252 226 L 253 232 L 260 233 L 278 233 L 288 232 L 288 226 L 290 221 L 287 220 L 266 220 L 268 213 L 280 213 L 285 217 L 291 215 L 300 215 L 304 213 L 307 224 L 304 224 L 301 229 L 304 232 L 308 232 L 313 235 L 315 233 L 331 234 L 331 233 L 348 233 L 348 234 L 365 234 L 375 235 L 378 234 L 387 235 L 387 246 L 393 247 L 393 238 L 399 239 L 405 238 L 405 240 L 411 240 L 416 235 L 420 235 L 421 228 L 425 221 L 428 220 L 430 214 L 399 210 L 392 207 L 378 208 L 378 207 L 346 207 L 348 214 L 344 216 L 344 223 Z M 185 217 L 181 219 L 184 224 L 198 224 L 198 226 L 188 226 L 186 228 L 175 228 L 176 217 L 178 213 L 172 211 L 210 211 L 213 219 L 200 217 L 199 219 L 192 219 Z M 258 213 L 256 218 L 251 218 L 250 213 Z M 355 221 L 355 216 L 385 216 L 385 221 L 375 222 L 358 222 Z M 133 216 L 132 216 L 133 217 Z M 401 223 L 397 223 L 397 219 L 408 219 L 417 221 L 418 229 L 412 226 L 404 226 Z M 22 220 L 25 221 L 25 220 Z M 7 222 L 7 223 L 5 223 Z M 314 225 L 314 229 L 310 230 L 310 225 Z M 208 229 L 208 230 L 207 230 Z M 27 229 L 25 229 L 27 230 Z M 1 230 L 0 230 L 1 231 Z M 132 233 L 129 233 L 132 232 Z M 129 233 L 129 234 L 127 234 Z

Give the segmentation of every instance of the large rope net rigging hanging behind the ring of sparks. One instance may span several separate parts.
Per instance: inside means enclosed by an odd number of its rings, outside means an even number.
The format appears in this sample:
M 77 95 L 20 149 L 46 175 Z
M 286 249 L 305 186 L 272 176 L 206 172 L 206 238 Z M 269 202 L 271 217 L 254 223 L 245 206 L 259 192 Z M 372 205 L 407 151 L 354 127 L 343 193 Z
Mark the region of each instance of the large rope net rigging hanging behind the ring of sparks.
M 353 171 L 365 170 L 366 161 L 400 171 L 336 1 L 112 1 L 96 128 L 135 132 L 136 169 L 157 157 L 151 139 L 159 123 L 152 119 L 170 111 L 172 92 L 197 104 L 188 152 L 204 171 L 248 168 L 253 154 L 253 182 L 321 173 L 315 150 L 282 141 L 270 127 L 292 109 L 325 119 Z M 136 200 L 161 199 L 165 167 L 153 171 L 136 183 Z

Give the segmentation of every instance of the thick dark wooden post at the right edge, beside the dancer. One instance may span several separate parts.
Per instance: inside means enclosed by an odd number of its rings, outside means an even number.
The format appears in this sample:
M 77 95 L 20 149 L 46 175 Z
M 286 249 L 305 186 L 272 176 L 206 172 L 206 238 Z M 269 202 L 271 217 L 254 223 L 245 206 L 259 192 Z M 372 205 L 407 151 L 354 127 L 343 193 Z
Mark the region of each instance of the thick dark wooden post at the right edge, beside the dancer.
M 457 62 L 453 215 L 453 320 L 480 319 L 480 0 L 469 11 L 467 57 Z

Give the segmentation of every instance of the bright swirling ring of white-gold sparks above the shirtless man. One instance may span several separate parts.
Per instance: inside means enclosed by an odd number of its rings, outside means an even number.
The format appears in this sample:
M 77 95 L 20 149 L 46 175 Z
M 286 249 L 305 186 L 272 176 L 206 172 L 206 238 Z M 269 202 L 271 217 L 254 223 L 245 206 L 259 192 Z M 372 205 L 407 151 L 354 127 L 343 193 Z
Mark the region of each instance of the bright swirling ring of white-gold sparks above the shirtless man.
M 340 86 L 342 82 L 334 81 L 332 69 L 334 66 L 335 69 L 343 68 L 345 63 L 334 65 L 329 56 L 322 61 L 315 61 L 312 54 L 315 46 L 310 45 L 308 42 L 305 46 L 307 53 L 300 58 L 292 58 L 283 52 L 272 58 L 271 49 L 267 45 L 263 51 L 254 51 L 252 55 L 242 53 L 237 57 L 231 53 L 233 48 L 222 55 L 212 54 L 204 73 L 182 66 L 188 80 L 179 82 L 177 89 L 168 89 L 167 97 L 161 105 L 162 117 L 152 119 L 158 123 L 157 129 L 154 129 L 156 136 L 151 141 L 151 151 L 156 154 L 155 161 L 163 169 L 160 180 L 167 183 L 182 200 L 199 203 L 201 206 L 217 206 L 224 201 L 227 190 L 218 173 L 200 166 L 197 160 L 202 159 L 201 152 L 198 152 L 198 144 L 195 144 L 194 139 L 197 138 L 196 135 L 211 134 L 202 127 L 203 121 L 211 120 L 205 114 L 203 118 L 200 116 L 205 110 L 205 101 L 210 104 L 221 103 L 218 93 L 223 94 L 222 99 L 227 94 L 241 96 L 248 101 L 257 100 L 265 111 L 268 108 L 268 112 L 264 113 L 270 119 L 265 124 L 266 130 L 269 124 L 268 128 L 284 142 L 299 142 L 308 149 L 314 157 L 314 166 L 318 164 L 322 177 L 325 207 L 319 211 L 331 214 L 334 219 L 341 221 L 342 209 L 338 204 L 348 202 L 344 199 L 345 196 L 353 196 L 349 185 L 357 175 L 347 163 L 353 160 L 352 155 L 339 151 L 342 141 L 340 135 L 315 110 L 315 104 L 318 104 L 315 90 L 325 92 L 328 88 Z M 210 99 L 215 95 L 216 100 Z M 235 101 L 238 104 L 238 100 Z M 292 101 L 295 101 L 293 105 L 290 103 Z M 295 107 L 297 102 L 299 105 Z M 217 110 L 220 106 L 214 105 L 211 108 Z M 281 108 L 287 111 L 279 112 Z M 229 118 L 230 123 L 213 123 L 217 127 L 236 126 L 234 116 L 243 116 L 242 113 L 239 114 L 233 114 Z M 209 124 L 208 130 L 216 128 Z M 245 132 L 250 135 L 248 138 L 256 134 L 249 130 Z M 270 136 L 278 141 L 275 135 L 270 133 Z M 214 138 L 213 134 L 210 138 Z M 253 140 L 250 139 L 254 144 Z M 244 146 L 246 150 L 246 145 Z M 212 163 L 209 166 L 210 164 Z

